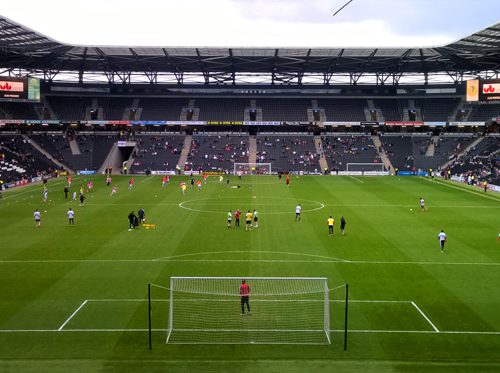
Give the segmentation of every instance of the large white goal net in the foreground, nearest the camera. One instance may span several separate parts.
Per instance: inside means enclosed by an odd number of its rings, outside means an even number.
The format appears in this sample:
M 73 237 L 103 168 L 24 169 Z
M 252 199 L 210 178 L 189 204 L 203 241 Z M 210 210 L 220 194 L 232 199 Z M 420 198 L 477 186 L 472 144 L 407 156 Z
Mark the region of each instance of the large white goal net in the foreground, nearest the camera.
M 239 277 L 171 277 L 167 343 L 331 343 L 327 278 L 245 282 L 248 305 Z

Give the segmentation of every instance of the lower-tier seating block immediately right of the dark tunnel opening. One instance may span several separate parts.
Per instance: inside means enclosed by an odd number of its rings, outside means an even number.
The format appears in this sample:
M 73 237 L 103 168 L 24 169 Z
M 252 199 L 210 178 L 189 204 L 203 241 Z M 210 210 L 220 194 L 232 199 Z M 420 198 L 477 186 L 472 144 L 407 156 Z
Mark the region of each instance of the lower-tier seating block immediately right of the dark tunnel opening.
M 181 133 L 140 134 L 135 136 L 137 151 L 132 173 L 152 171 L 174 171 L 184 146 L 185 135 Z

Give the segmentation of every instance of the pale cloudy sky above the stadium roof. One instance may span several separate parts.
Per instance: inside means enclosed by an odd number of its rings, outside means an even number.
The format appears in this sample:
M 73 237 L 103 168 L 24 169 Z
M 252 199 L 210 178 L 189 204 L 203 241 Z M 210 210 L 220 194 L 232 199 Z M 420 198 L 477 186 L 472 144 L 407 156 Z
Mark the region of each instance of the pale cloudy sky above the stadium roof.
M 70 44 L 417 47 L 500 21 L 500 0 L 17 0 L 0 14 Z

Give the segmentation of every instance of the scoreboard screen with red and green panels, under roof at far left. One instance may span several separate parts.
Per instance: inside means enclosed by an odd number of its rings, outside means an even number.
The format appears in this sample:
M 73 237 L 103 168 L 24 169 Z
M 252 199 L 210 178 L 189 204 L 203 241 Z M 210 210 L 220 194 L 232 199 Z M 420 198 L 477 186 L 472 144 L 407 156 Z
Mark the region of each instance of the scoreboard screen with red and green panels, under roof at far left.
M 0 76 L 0 101 L 40 102 L 40 79 Z

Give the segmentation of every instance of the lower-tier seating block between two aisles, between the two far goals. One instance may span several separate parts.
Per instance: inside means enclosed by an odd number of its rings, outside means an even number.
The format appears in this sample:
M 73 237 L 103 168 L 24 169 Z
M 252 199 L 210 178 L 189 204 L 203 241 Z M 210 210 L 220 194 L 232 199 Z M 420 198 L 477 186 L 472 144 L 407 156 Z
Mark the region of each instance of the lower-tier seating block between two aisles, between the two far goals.
M 309 134 L 259 134 L 257 162 L 271 163 L 273 172 L 321 172 L 314 137 Z

